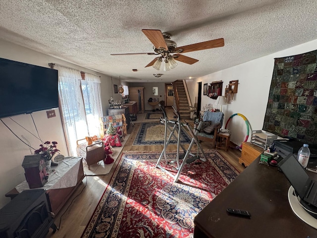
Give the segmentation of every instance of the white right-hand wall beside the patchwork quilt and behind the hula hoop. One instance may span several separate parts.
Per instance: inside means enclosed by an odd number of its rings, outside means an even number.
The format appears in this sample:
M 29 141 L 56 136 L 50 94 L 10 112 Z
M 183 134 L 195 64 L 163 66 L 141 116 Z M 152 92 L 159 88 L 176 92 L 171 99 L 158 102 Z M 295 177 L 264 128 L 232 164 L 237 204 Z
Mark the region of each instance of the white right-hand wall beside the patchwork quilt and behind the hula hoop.
M 269 87 L 273 74 L 274 58 L 281 58 L 291 55 L 298 55 L 317 49 L 317 40 L 289 48 L 284 51 L 252 60 L 231 68 L 227 68 L 204 77 L 196 79 L 196 82 L 211 83 L 212 81 L 223 81 L 222 95 L 224 89 L 231 80 L 239 80 L 238 93 L 233 102 L 223 106 L 224 125 L 227 119 L 236 113 L 244 115 L 250 122 L 253 130 L 262 129 L 264 115 L 268 99 Z M 198 87 L 198 84 L 196 84 Z M 194 102 L 193 99 L 192 103 Z M 206 104 L 214 103 L 215 100 L 203 96 L 202 92 L 202 109 Z M 247 126 L 239 116 L 234 116 L 228 123 L 228 129 L 231 130 L 230 140 L 237 145 L 241 145 L 247 135 Z M 251 130 L 250 128 L 250 136 Z M 250 137 L 248 139 L 250 141 Z

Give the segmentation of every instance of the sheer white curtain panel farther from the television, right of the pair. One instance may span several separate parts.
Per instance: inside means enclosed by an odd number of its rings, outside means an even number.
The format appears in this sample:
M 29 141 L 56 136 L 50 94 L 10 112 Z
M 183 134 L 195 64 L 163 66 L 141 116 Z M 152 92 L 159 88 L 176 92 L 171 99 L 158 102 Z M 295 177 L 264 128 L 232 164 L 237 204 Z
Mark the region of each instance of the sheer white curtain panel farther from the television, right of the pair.
M 91 73 L 85 73 L 85 80 L 82 80 L 82 90 L 90 136 L 100 136 L 99 118 L 103 117 L 100 83 L 100 77 Z

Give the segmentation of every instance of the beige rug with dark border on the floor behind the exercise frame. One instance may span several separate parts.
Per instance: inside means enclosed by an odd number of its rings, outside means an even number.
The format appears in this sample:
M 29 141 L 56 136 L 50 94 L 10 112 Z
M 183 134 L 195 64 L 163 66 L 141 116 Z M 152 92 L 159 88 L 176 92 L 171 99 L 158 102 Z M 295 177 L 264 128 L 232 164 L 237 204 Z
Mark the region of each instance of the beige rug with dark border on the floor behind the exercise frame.
M 171 127 L 172 129 L 172 127 Z M 169 131 L 167 131 L 167 137 Z M 160 122 L 144 122 L 141 124 L 140 129 L 134 139 L 133 145 L 163 145 L 164 144 L 165 125 Z M 176 137 L 178 136 L 175 133 Z M 182 130 L 181 143 L 189 144 L 191 137 L 188 133 Z M 177 141 L 172 138 L 171 144 L 176 144 Z

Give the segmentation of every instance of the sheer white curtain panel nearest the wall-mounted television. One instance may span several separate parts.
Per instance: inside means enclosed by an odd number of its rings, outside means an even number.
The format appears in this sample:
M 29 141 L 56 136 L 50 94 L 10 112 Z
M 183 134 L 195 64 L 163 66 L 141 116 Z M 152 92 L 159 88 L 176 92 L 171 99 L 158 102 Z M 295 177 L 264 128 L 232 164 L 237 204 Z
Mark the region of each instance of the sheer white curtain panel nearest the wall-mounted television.
M 79 70 L 54 65 L 58 70 L 58 94 L 63 126 L 71 156 L 76 156 L 76 140 L 88 135 L 85 106 L 81 92 Z

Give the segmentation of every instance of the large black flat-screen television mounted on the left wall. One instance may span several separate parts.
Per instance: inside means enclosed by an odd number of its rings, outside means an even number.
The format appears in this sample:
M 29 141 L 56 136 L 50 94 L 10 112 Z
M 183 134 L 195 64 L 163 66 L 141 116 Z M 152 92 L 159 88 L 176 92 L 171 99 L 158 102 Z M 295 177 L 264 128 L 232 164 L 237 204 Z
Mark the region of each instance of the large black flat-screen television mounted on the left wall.
M 58 108 L 57 70 L 0 58 L 0 118 Z

